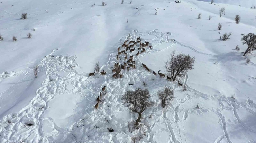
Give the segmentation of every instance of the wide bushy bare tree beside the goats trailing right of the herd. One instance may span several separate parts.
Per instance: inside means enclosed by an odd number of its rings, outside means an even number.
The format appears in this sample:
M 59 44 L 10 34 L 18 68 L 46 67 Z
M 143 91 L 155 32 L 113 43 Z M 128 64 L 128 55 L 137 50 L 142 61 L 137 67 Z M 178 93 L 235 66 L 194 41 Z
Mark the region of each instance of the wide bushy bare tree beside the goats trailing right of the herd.
M 194 69 L 195 57 L 185 55 L 182 52 L 177 56 L 172 52 L 167 62 L 165 62 L 165 70 L 171 74 L 171 78 L 175 81 L 177 76 L 182 76 L 188 70 Z

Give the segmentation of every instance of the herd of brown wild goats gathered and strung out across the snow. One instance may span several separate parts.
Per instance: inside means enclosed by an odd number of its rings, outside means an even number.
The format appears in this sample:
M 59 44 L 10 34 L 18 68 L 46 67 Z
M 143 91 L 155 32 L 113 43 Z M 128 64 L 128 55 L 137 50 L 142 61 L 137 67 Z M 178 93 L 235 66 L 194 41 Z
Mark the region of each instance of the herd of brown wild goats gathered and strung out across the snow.
M 130 38 L 125 40 L 124 43 L 121 46 L 119 46 L 118 49 L 117 49 L 117 52 L 118 52 L 117 57 L 116 57 L 117 63 L 115 62 L 115 64 L 114 64 L 114 67 L 113 67 L 113 70 L 112 70 L 112 73 L 114 73 L 114 74 L 113 74 L 112 78 L 115 78 L 115 79 L 122 78 L 124 74 L 121 73 L 121 69 L 122 70 L 127 69 L 129 71 L 130 69 L 135 69 L 136 68 L 135 61 L 133 61 L 134 55 L 129 56 L 129 59 L 128 59 L 128 56 L 127 56 L 127 53 L 128 53 L 127 51 L 128 50 L 130 51 L 130 54 L 132 54 L 132 52 L 134 52 L 136 50 L 136 48 L 138 50 L 138 53 L 136 54 L 136 56 L 138 56 L 139 54 L 141 54 L 143 52 L 146 52 L 145 48 L 152 49 L 152 45 L 150 45 L 149 42 L 146 42 L 146 41 L 141 42 L 140 37 L 136 38 L 136 40 L 130 40 Z M 124 58 L 121 57 L 123 54 L 124 54 Z M 122 59 L 124 59 L 124 60 L 122 60 Z M 120 62 L 121 65 L 119 64 L 120 60 L 122 60 Z M 143 66 L 143 68 L 145 68 L 145 70 L 150 72 L 150 69 L 145 64 L 142 63 L 142 66 Z M 152 72 L 153 72 L 154 75 L 156 75 L 156 72 L 154 72 L 154 71 L 152 71 Z M 95 71 L 93 73 L 89 73 L 89 76 L 95 76 L 94 75 L 95 73 L 96 73 Z M 160 78 L 165 77 L 165 74 L 160 73 L 160 70 L 158 71 L 157 74 L 160 76 Z M 102 72 L 100 72 L 100 75 L 106 75 L 106 72 L 103 70 Z M 170 77 L 167 76 L 167 80 L 169 80 L 169 78 Z M 106 94 L 105 88 L 106 88 L 106 86 L 104 86 L 102 88 L 103 95 Z M 100 92 L 100 96 L 98 96 L 98 98 L 96 99 L 97 104 L 94 106 L 94 109 L 98 108 L 99 101 L 101 100 L 101 98 L 102 98 L 102 94 Z

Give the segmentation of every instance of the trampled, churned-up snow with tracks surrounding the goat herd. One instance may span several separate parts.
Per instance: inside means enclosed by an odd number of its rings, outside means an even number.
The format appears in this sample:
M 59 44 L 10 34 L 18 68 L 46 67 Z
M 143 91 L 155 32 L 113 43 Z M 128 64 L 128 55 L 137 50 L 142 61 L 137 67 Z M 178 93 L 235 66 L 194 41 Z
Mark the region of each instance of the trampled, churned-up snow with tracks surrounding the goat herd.
M 255 115 L 256 104 L 252 100 L 238 102 L 221 94 L 203 94 L 189 86 L 187 86 L 188 91 L 183 92 L 176 82 L 168 82 L 164 78 L 161 79 L 153 75 L 152 71 L 147 72 L 141 67 L 139 58 L 145 54 L 163 51 L 171 48 L 176 43 L 180 44 L 175 40 L 170 40 L 168 38 L 169 35 L 171 33 L 159 33 L 156 30 L 144 33 L 138 30 L 132 31 L 130 33 L 131 39 L 141 36 L 143 41 L 146 40 L 153 45 L 153 49 L 146 48 L 145 53 L 140 54 L 138 57 L 135 56 L 136 69 L 122 71 L 124 73 L 122 79 L 112 79 L 111 70 L 114 62 L 117 62 L 117 51 L 110 54 L 107 63 L 101 67 L 101 70 L 105 70 L 107 74 L 105 76 L 97 74 L 95 77 L 88 77 L 88 73 L 76 72 L 75 68 L 78 67 L 75 61 L 76 56 L 54 55 L 55 51 L 53 51 L 39 64 L 40 67 L 46 68 L 47 79 L 42 83 L 42 87 L 36 91 L 36 97 L 20 112 L 9 114 L 2 119 L 0 142 L 26 140 L 32 143 L 120 143 L 131 142 L 131 137 L 139 135 L 143 130 L 146 131 L 146 136 L 143 138 L 144 142 L 190 142 L 189 137 L 186 137 L 186 132 L 188 131 L 185 130 L 186 123 L 192 119 L 190 116 L 196 115 L 205 119 L 204 114 L 214 113 L 221 121 L 220 126 L 223 129 L 223 133 L 222 135 L 214 134 L 215 139 L 213 141 L 221 142 L 225 138 L 227 142 L 232 143 L 227 130 L 229 121 L 221 113 L 229 109 L 232 109 L 237 119 L 235 124 L 255 134 L 255 130 L 246 126 L 236 112 L 237 109 L 244 108 Z M 120 38 L 120 41 L 123 42 L 127 37 Z M 167 45 L 165 45 L 166 43 Z M 185 46 L 183 44 L 180 45 Z M 185 47 L 193 50 L 192 47 Z M 127 56 L 135 55 L 138 52 L 136 51 L 132 53 L 127 51 Z M 121 58 L 119 60 L 121 64 L 124 55 L 119 57 Z M 186 75 L 183 84 L 186 84 L 188 78 L 189 76 Z M 126 90 L 134 90 L 138 87 L 144 88 L 142 86 L 143 81 L 146 81 L 147 88 L 152 94 L 150 100 L 155 101 L 157 104 L 156 107 L 145 111 L 141 128 L 129 133 L 127 123 L 134 120 L 136 115 L 128 113 L 128 109 L 123 106 L 120 97 Z M 129 84 L 134 85 L 131 86 Z M 174 103 L 163 109 L 159 106 L 159 100 L 156 96 L 156 91 L 161 89 L 163 85 L 175 88 L 175 95 L 183 95 L 184 98 L 177 97 Z M 103 86 L 106 86 L 108 93 L 103 97 L 98 110 L 94 111 L 95 99 L 99 96 Z M 68 103 L 65 103 L 66 99 L 69 100 Z M 201 109 L 186 107 L 194 101 L 200 103 Z M 75 102 L 74 106 L 71 109 L 66 109 L 65 106 L 69 106 L 73 102 Z M 219 107 L 209 108 L 206 106 L 208 102 L 217 104 Z M 61 104 L 64 104 L 64 109 L 58 109 Z M 148 117 L 149 114 L 152 114 L 152 118 Z M 108 122 L 105 120 L 108 120 Z M 10 121 L 10 123 L 7 121 Z M 33 126 L 25 126 L 26 123 L 32 123 Z M 113 128 L 115 132 L 109 133 L 107 127 Z

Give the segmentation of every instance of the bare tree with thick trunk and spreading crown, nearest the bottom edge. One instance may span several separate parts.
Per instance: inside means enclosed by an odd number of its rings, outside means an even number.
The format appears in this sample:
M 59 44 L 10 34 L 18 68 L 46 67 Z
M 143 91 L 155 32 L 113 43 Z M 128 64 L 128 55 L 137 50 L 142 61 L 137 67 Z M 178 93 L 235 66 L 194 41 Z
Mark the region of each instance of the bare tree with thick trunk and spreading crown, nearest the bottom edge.
M 155 105 L 153 101 L 149 101 L 150 94 L 148 89 L 136 89 L 135 91 L 125 91 L 121 100 L 126 107 L 129 107 L 130 113 L 138 113 L 138 118 L 135 121 L 135 126 L 139 129 L 139 122 L 141 122 L 142 112 Z

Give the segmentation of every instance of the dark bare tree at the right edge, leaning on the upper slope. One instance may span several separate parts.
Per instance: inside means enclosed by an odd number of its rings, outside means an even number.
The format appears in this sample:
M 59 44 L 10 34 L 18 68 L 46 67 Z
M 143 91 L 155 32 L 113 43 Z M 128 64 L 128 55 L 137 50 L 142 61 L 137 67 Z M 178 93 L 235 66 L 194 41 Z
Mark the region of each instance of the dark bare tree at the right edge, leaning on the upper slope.
M 243 41 L 243 45 L 246 44 L 248 46 L 243 55 L 245 56 L 247 52 L 256 50 L 256 35 L 248 33 L 247 35 L 242 34 L 242 36 L 241 41 Z

